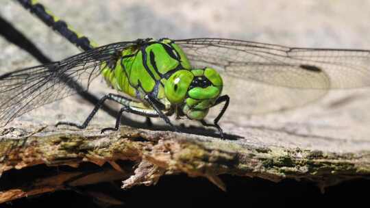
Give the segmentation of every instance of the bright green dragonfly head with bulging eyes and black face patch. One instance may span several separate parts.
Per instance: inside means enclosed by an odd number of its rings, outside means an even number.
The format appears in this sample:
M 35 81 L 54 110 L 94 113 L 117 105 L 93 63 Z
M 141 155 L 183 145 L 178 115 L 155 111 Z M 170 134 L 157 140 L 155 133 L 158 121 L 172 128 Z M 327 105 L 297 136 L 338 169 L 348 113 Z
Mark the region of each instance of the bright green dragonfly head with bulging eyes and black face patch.
M 219 98 L 223 81 L 213 68 L 177 70 L 164 85 L 164 94 L 173 105 L 180 106 L 190 119 L 201 120 Z

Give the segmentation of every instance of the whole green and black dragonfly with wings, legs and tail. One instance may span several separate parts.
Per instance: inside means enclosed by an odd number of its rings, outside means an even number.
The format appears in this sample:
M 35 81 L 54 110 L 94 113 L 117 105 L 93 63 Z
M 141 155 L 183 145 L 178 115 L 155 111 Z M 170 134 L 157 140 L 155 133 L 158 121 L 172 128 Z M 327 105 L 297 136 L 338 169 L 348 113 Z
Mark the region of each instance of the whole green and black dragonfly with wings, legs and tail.
M 162 118 L 174 131 L 178 129 L 169 116 L 196 120 L 225 138 L 219 121 L 234 101 L 247 103 L 234 111 L 264 114 L 317 101 L 329 90 L 370 85 L 368 50 L 284 47 L 225 38 L 145 38 L 97 47 L 37 1 L 18 2 L 83 52 L 0 75 L 1 126 L 89 90 L 97 77 L 116 93 L 103 96 L 83 123 L 63 121 L 56 126 L 84 129 L 110 100 L 122 107 L 115 126 L 101 133 L 117 131 L 122 114 L 131 113 Z M 207 122 L 210 109 L 217 105 L 222 106 L 219 114 Z

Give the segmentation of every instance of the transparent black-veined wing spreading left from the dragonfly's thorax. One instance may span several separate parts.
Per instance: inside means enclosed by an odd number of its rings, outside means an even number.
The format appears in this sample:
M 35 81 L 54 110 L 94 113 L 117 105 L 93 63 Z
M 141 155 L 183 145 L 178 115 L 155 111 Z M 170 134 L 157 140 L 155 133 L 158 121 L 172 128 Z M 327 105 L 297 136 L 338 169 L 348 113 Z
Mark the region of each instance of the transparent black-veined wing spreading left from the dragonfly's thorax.
M 79 53 L 60 62 L 0 76 L 0 126 L 37 107 L 88 90 L 99 66 L 136 42 L 119 42 Z

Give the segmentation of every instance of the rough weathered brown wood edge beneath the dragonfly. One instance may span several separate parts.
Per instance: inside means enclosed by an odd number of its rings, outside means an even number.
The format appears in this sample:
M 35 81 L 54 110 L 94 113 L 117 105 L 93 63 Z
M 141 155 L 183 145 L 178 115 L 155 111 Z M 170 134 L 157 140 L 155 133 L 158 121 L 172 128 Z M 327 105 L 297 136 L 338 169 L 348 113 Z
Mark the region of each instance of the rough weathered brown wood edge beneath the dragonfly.
M 220 140 L 130 127 L 109 134 L 101 134 L 98 127 L 83 131 L 30 127 L 28 135 L 12 136 L 23 130 L 12 129 L 3 135 L 0 155 L 6 155 L 6 158 L 0 166 L 1 172 L 36 164 L 77 167 L 86 161 L 99 166 L 110 163 L 115 170 L 90 178 L 77 177 L 73 181 L 69 179 L 82 173 L 61 172 L 38 179 L 31 187 L 25 185 L 30 181 L 23 181 L 23 185 L 2 190 L 1 202 L 53 192 L 66 188 L 66 185 L 86 185 L 107 179 L 123 179 L 122 187 L 126 189 L 139 184 L 151 185 L 164 174 L 180 172 L 190 177 L 206 177 L 223 190 L 227 186 L 219 180 L 219 174 L 261 177 L 271 181 L 307 179 L 320 187 L 370 177 L 369 151 L 331 153 L 308 148 L 256 145 L 245 139 Z M 137 166 L 123 170 L 115 163 L 118 160 L 133 161 Z

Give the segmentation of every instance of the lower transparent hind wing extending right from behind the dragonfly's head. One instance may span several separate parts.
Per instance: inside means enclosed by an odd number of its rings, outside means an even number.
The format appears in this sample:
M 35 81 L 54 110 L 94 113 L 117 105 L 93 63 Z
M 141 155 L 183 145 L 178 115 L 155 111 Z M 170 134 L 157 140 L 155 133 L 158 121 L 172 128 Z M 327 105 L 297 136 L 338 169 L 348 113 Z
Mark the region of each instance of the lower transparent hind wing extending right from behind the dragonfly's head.
M 322 89 L 286 88 L 261 81 L 223 77 L 223 92 L 232 99 L 233 115 L 266 114 L 293 109 L 313 103 L 328 93 Z

